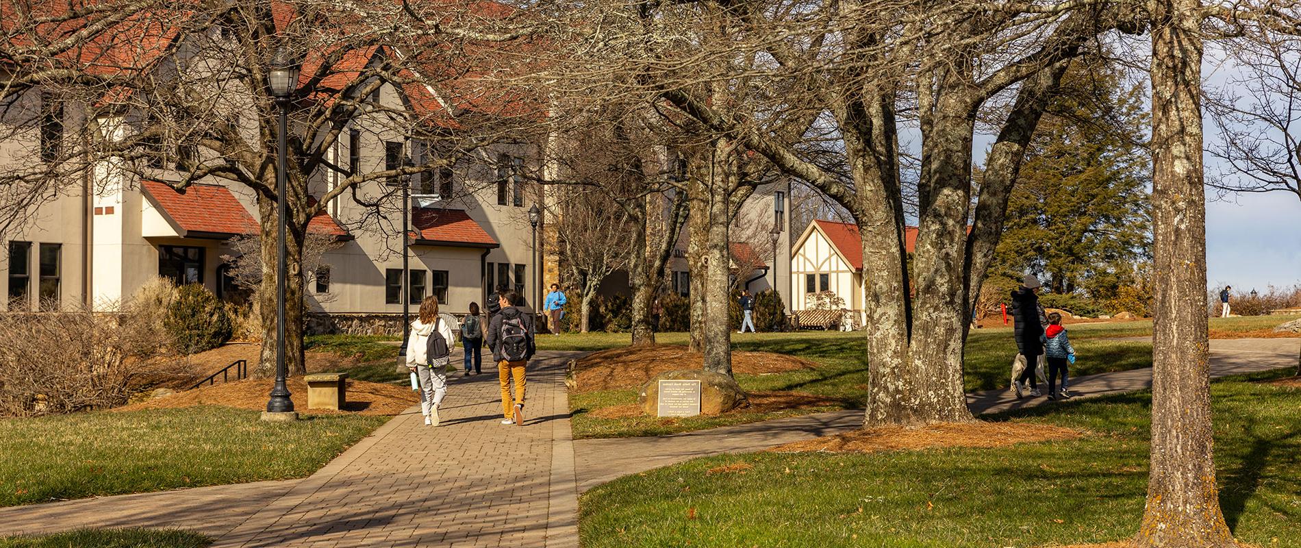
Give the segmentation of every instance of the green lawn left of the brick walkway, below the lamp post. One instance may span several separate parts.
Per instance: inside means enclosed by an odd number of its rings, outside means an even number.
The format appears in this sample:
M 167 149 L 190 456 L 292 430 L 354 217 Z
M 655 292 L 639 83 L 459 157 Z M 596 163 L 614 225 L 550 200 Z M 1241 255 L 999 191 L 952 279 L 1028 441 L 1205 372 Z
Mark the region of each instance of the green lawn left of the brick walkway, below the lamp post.
M 389 419 L 258 415 L 199 406 L 0 419 L 0 506 L 303 478 Z

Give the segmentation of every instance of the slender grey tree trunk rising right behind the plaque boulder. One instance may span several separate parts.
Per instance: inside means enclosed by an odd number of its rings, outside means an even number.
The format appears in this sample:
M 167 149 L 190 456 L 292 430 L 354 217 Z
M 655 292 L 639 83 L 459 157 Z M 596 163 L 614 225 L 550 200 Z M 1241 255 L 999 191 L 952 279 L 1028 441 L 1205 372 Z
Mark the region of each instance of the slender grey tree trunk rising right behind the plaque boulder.
M 709 211 L 705 219 L 705 282 L 704 282 L 704 353 L 705 371 L 731 376 L 731 325 L 729 305 L 731 303 L 731 253 L 729 250 L 729 228 L 731 225 L 727 191 L 736 164 L 732 159 L 735 148 L 719 139 L 714 144 L 714 167 L 709 181 Z

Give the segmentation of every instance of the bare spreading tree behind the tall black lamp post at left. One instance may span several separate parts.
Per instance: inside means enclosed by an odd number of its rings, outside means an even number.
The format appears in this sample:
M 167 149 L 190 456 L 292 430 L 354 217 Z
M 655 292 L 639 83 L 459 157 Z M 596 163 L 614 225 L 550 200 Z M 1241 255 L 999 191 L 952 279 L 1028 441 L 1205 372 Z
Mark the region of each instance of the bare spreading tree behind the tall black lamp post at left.
M 64 191 L 59 181 L 96 176 L 118 185 L 157 178 L 176 189 L 206 180 L 242 185 L 256 195 L 262 280 L 271 286 L 281 103 L 268 74 L 277 56 L 299 62 L 302 75 L 282 104 L 290 111 L 286 361 L 301 374 L 302 254 L 311 219 L 336 198 L 385 217 L 382 197 L 392 193 L 385 181 L 475 158 L 490 143 L 514 139 L 509 120 L 536 118 L 526 112 L 535 104 L 527 92 L 481 85 L 480 74 L 524 62 L 503 55 L 519 36 L 513 10 L 488 8 L 380 0 L 7 4 L 7 14 L 17 17 L 5 17 L 0 43 L 0 59 L 14 70 L 4 96 L 57 98 L 65 138 L 56 155 L 27 155 L 39 161 L 8 172 L 0 198 L 8 211 L 29 211 Z M 384 86 L 399 90 L 402 107 L 375 100 Z M 332 155 L 355 126 L 388 141 L 435 143 L 429 148 L 440 154 L 362 173 Z M 338 177 L 310 199 L 311 184 L 328 174 Z M 260 298 L 263 310 L 275 307 L 273 292 Z M 273 316 L 263 316 L 264 341 L 276 340 L 275 325 Z M 275 346 L 263 346 L 260 372 L 272 368 Z

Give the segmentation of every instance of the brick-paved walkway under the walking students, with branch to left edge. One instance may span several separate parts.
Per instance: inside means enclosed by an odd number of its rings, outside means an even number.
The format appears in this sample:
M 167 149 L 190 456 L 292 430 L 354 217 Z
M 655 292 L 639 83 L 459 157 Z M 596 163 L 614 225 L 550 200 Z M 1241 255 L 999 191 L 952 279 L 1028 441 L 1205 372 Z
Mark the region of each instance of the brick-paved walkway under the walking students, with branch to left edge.
M 500 424 L 496 367 L 455 377 L 442 426 L 396 417 L 310 478 L 0 509 L 0 536 L 183 527 L 215 547 L 578 547 L 565 362 L 530 368 L 526 424 Z

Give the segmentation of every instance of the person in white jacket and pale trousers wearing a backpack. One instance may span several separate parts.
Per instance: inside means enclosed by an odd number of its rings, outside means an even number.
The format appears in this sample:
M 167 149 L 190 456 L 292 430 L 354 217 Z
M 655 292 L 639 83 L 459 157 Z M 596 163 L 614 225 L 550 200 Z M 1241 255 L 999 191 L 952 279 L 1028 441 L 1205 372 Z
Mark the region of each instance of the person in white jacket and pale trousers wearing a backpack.
M 407 368 L 420 381 L 420 414 L 425 426 L 438 426 L 438 405 L 448 396 L 448 362 L 455 341 L 451 325 L 438 318 L 438 298 L 425 297 L 407 338 Z

